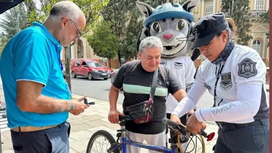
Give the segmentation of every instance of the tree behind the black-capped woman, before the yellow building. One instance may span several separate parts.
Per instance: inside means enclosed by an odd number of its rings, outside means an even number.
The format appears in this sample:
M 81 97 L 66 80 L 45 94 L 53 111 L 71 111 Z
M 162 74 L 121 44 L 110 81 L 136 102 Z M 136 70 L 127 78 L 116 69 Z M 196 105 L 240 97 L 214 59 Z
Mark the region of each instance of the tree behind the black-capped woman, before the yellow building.
M 236 23 L 237 43 L 245 46 L 248 46 L 248 41 L 253 38 L 248 34 L 252 24 L 246 18 L 250 9 L 249 4 L 249 0 L 221 0 L 221 11 L 226 17 L 233 18 Z

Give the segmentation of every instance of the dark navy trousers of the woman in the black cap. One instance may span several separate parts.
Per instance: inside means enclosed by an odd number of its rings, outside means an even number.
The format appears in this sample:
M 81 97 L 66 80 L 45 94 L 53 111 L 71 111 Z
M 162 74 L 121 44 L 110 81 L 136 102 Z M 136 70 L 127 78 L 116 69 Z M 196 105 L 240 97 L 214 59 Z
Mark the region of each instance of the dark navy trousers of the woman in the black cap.
M 214 153 L 269 153 L 269 122 L 235 130 L 218 130 Z

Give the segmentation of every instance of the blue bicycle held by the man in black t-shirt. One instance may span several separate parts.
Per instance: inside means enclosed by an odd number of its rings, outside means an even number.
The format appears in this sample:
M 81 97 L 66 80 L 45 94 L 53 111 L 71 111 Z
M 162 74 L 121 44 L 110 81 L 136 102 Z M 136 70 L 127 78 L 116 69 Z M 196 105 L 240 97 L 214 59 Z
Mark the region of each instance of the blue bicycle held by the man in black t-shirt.
M 196 135 L 187 135 L 187 129 L 186 127 L 182 125 L 178 125 L 178 123 L 171 121 L 170 119 L 164 118 L 162 121 L 164 124 L 169 125 L 170 127 L 170 149 L 166 147 L 159 147 L 159 146 L 154 146 L 154 145 L 148 145 L 148 144 L 143 144 L 139 142 L 132 141 L 129 137 L 130 140 L 126 139 L 126 128 L 125 128 L 125 121 L 127 120 L 132 120 L 130 116 L 119 116 L 119 125 L 120 125 L 120 130 L 117 130 L 117 140 L 114 139 L 114 137 L 107 131 L 105 130 L 98 130 L 95 132 L 87 145 L 87 150 L 86 153 L 127 153 L 127 145 L 131 146 L 136 146 L 148 150 L 153 150 L 157 151 L 160 153 L 184 153 L 181 148 L 181 142 L 185 143 L 188 141 L 188 137 L 190 136 L 196 136 Z M 106 139 L 109 141 L 110 146 L 106 146 L 105 149 L 106 151 L 102 151 L 100 149 L 100 152 L 92 152 L 92 149 L 94 148 L 94 142 L 95 140 L 99 137 L 102 136 L 104 137 L 102 141 L 105 141 Z M 201 130 L 201 133 L 199 134 L 201 137 L 201 142 L 202 142 L 202 147 L 203 147 L 203 153 L 205 153 L 205 145 L 204 145 L 204 138 L 207 138 L 207 141 L 210 141 L 214 137 L 214 132 L 207 135 L 203 130 Z M 196 136 L 197 137 L 197 136 Z M 198 137 L 199 138 L 199 137 Z M 120 140 L 120 142 L 119 142 Z M 192 140 L 192 137 L 190 137 L 190 141 Z M 101 142 L 99 142 L 101 144 Z M 193 142 L 194 143 L 194 142 Z M 103 144 L 102 144 L 103 147 Z M 188 145 L 187 145 L 188 147 Z M 194 146 L 195 148 L 195 146 Z M 193 150 L 194 150 L 193 148 Z M 97 149 L 97 147 L 95 148 Z M 103 149 L 103 148 L 102 148 Z M 186 148 L 187 149 L 187 148 Z M 192 152 L 192 151 L 191 151 Z M 190 153 L 190 152 L 188 152 Z

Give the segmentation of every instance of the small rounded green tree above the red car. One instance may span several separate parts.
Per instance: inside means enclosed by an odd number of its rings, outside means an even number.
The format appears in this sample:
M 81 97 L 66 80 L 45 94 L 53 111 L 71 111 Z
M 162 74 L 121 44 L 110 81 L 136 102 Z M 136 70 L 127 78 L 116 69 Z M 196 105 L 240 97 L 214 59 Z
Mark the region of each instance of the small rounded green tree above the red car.
M 112 34 L 111 23 L 102 21 L 95 29 L 93 35 L 88 37 L 88 43 L 97 56 L 108 59 L 111 68 L 111 59 L 118 52 L 119 40 Z

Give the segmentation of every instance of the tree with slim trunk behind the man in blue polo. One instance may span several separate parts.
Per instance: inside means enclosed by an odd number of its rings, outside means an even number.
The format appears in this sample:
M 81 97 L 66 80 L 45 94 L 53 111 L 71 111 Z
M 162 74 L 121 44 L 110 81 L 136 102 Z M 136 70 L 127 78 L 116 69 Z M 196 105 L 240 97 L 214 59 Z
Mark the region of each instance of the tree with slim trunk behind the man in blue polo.
M 48 17 L 51 7 L 62 0 L 38 0 L 40 8 L 33 7 L 34 0 L 26 0 L 27 6 L 32 9 L 32 12 L 29 17 L 29 22 L 32 23 L 33 21 L 37 22 L 44 22 L 46 17 Z M 83 11 L 86 17 L 86 25 L 85 29 L 83 30 L 82 34 L 84 37 L 87 37 L 89 34 L 88 32 L 92 27 L 95 27 L 98 23 L 99 19 L 101 19 L 101 11 L 103 7 L 105 7 L 109 0 L 70 0 L 77 4 L 79 8 Z M 36 5 L 36 3 L 35 3 Z M 71 91 L 71 78 L 70 78 L 70 54 L 71 54 L 71 46 L 74 43 L 70 44 L 65 49 L 65 73 L 66 73 L 66 82 L 68 87 Z

